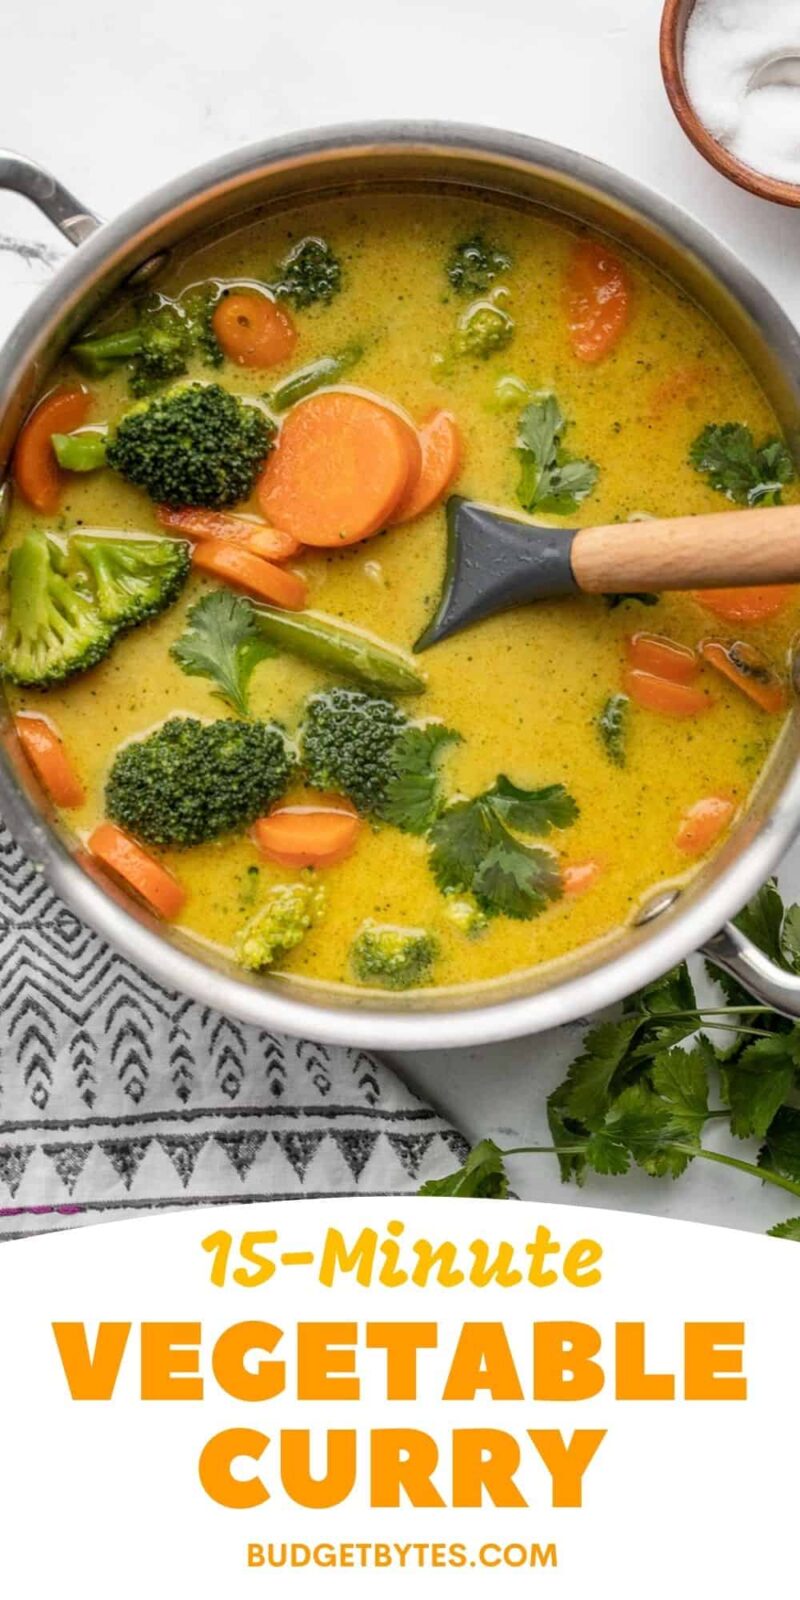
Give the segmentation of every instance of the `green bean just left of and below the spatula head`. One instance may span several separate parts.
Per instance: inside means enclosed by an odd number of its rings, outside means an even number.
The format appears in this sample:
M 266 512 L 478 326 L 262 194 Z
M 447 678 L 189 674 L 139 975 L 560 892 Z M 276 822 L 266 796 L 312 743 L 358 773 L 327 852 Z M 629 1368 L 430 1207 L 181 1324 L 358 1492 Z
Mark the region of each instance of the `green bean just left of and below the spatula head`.
M 315 611 L 280 611 L 269 605 L 254 605 L 253 611 L 264 638 L 317 667 L 394 694 L 421 694 L 426 686 L 408 656 L 368 634 L 339 627 Z

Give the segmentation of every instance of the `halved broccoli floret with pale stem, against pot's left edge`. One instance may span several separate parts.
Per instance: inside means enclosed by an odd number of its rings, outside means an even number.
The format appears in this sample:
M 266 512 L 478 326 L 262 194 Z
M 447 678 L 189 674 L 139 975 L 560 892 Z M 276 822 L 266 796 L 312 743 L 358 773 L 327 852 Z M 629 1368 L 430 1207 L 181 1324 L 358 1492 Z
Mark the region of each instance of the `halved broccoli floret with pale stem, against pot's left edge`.
M 29 533 L 8 558 L 3 677 L 48 688 L 96 666 L 112 640 L 114 629 L 94 597 L 67 576 L 61 546 L 43 533 Z

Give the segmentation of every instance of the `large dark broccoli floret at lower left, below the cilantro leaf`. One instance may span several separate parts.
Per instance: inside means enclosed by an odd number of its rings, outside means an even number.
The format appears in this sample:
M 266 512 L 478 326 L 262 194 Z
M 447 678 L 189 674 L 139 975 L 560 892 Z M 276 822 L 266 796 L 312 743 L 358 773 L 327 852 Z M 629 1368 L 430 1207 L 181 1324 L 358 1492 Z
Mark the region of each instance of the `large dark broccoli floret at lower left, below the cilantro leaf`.
M 293 770 L 275 723 L 170 717 L 117 750 L 106 810 L 150 845 L 202 845 L 269 811 Z

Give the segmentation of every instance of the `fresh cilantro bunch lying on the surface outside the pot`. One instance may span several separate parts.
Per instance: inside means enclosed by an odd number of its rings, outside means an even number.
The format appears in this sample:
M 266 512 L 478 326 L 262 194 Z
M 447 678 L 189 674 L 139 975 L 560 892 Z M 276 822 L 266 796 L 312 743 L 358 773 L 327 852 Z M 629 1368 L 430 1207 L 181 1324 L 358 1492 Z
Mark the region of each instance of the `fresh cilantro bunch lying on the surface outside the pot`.
M 736 920 L 771 960 L 800 973 L 800 906 L 784 910 L 774 882 Z M 707 1160 L 800 1195 L 800 1024 L 755 1005 L 725 973 L 710 974 L 728 1005 L 698 1006 L 682 963 L 632 995 L 616 1021 L 590 1029 L 547 1102 L 552 1146 L 499 1150 L 485 1139 L 422 1194 L 504 1198 L 504 1157 L 554 1154 L 565 1182 L 621 1178 L 632 1166 L 680 1178 Z M 707 1123 L 720 1120 L 734 1138 L 758 1139 L 755 1162 L 702 1144 Z M 800 1216 L 770 1232 L 800 1240 Z

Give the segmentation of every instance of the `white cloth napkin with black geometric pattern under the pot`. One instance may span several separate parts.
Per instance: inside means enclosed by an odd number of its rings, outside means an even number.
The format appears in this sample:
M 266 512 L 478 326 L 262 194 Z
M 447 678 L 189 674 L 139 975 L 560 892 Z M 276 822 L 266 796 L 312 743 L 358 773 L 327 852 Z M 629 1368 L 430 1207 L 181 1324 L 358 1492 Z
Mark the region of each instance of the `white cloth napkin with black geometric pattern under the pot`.
M 408 1194 L 467 1142 L 362 1050 L 162 989 L 0 824 L 0 1238 L 186 1205 Z

